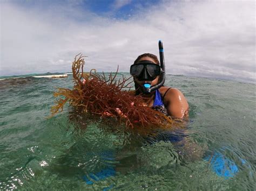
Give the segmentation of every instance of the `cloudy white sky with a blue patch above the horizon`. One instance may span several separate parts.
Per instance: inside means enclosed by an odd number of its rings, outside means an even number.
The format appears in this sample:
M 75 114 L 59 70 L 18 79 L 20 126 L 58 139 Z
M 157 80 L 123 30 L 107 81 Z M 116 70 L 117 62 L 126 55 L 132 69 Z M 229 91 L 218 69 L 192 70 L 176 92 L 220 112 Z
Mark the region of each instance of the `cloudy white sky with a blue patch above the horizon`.
M 166 73 L 255 83 L 255 1 L 1 0 L 0 76 L 129 72 L 165 50 Z

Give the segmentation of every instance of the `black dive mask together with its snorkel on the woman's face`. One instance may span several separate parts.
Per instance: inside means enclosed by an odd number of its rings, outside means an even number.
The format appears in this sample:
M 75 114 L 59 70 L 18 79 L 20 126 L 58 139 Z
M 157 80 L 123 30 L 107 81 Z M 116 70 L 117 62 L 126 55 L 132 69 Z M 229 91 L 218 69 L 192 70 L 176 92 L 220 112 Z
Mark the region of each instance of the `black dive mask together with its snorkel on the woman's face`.
M 132 65 L 130 68 L 130 74 L 140 81 L 153 81 L 157 76 L 160 75 L 159 82 L 156 85 L 151 87 L 149 83 L 143 84 L 144 94 L 150 94 L 152 91 L 163 86 L 165 82 L 164 47 L 161 40 L 159 40 L 158 46 L 160 66 L 152 61 L 142 60 Z

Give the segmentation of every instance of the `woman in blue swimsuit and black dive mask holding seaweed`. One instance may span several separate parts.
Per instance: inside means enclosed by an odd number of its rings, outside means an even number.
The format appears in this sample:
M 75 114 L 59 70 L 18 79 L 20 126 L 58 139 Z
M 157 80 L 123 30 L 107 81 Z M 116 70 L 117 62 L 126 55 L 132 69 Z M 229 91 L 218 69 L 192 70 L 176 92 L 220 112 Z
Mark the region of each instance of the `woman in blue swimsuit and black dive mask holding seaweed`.
M 156 55 L 150 53 L 139 55 L 131 66 L 130 73 L 133 75 L 136 95 L 147 98 L 147 107 L 173 118 L 188 117 L 188 103 L 178 89 L 158 86 L 158 89 L 150 93 L 145 91 L 145 87 L 157 86 L 160 80 L 161 68 Z M 119 108 L 116 111 L 119 116 L 122 116 Z

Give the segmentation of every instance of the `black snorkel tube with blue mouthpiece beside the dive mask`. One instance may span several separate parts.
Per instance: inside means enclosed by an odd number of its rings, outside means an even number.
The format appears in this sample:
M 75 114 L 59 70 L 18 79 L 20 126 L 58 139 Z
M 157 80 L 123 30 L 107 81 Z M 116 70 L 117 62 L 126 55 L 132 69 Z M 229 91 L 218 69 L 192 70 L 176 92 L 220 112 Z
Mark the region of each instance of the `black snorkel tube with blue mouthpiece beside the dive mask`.
M 163 46 L 163 42 L 161 40 L 159 40 L 159 42 L 158 42 L 158 47 L 159 47 L 160 68 L 161 68 L 160 79 L 159 79 L 159 82 L 152 87 L 150 86 L 149 83 L 145 83 L 143 85 L 143 93 L 144 94 L 150 94 L 152 91 L 163 86 L 164 82 L 165 82 L 164 46 Z

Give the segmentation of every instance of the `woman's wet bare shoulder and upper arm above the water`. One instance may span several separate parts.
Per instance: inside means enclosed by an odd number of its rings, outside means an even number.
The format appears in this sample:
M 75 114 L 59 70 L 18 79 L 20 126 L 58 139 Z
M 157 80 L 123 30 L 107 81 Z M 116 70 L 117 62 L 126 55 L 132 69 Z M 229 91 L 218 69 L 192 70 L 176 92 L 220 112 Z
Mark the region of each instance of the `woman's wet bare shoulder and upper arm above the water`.
M 188 103 L 180 90 L 176 88 L 161 87 L 160 94 L 164 96 L 164 104 L 169 115 L 177 118 L 186 117 L 188 113 Z

